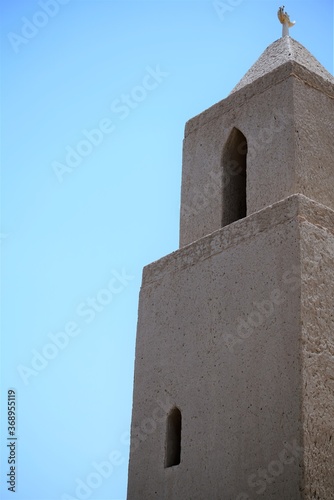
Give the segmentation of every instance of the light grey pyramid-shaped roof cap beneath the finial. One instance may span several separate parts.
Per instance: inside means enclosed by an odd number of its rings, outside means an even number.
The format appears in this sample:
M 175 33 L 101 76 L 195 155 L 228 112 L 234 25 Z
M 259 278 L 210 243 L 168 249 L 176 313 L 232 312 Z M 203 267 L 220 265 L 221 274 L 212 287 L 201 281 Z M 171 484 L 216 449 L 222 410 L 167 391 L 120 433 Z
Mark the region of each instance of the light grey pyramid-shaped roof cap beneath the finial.
M 301 66 L 334 84 L 333 76 L 297 40 L 289 36 L 279 38 L 269 45 L 259 59 L 247 71 L 231 93 L 240 90 L 287 61 L 296 61 Z

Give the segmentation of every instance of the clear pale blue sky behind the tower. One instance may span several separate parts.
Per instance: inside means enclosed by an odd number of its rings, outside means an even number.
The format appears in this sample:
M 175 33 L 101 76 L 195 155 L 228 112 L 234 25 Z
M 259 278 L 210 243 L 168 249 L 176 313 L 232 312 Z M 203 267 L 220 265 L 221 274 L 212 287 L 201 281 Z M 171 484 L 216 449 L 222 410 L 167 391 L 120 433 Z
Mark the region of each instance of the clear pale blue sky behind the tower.
M 15 499 L 125 500 L 141 273 L 178 248 L 184 125 L 281 36 L 279 5 L 2 0 L 1 498 L 13 389 Z M 333 72 L 333 1 L 286 9 Z

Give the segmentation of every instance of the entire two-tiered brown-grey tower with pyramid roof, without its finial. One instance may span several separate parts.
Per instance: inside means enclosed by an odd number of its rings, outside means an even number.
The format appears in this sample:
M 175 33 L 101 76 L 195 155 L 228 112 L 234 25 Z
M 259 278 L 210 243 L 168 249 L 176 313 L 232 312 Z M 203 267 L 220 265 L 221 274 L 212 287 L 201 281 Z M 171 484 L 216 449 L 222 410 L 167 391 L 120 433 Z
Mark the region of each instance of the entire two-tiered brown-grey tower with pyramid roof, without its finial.
M 145 267 L 128 500 L 334 498 L 334 85 L 270 45 L 186 124 L 180 249 Z

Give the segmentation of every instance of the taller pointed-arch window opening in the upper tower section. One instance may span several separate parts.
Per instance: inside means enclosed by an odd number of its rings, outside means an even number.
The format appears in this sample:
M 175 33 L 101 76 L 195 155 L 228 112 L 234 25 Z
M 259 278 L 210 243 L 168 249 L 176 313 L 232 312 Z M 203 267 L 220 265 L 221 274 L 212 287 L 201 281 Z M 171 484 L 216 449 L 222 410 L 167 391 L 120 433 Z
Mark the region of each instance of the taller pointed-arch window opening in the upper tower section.
M 234 128 L 225 144 L 222 158 L 222 227 L 247 215 L 247 140 Z

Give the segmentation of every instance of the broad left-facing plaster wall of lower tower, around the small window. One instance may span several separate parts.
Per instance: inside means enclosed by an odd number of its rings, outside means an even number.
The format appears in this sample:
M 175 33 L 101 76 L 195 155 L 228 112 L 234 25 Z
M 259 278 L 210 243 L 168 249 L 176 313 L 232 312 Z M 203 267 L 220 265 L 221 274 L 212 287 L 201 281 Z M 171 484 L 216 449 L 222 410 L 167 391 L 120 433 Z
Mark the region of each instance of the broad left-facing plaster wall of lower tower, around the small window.
M 302 391 L 301 229 L 333 228 L 333 215 L 292 196 L 145 268 L 128 500 L 312 498 L 302 493 L 302 432 L 317 431 Z M 181 463 L 165 469 L 174 405 Z

